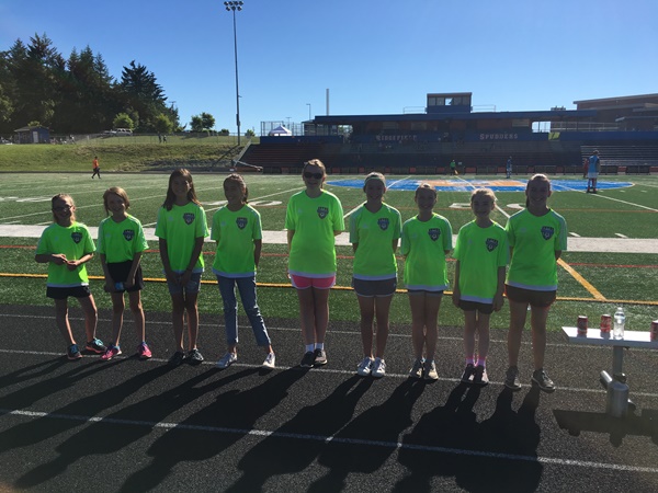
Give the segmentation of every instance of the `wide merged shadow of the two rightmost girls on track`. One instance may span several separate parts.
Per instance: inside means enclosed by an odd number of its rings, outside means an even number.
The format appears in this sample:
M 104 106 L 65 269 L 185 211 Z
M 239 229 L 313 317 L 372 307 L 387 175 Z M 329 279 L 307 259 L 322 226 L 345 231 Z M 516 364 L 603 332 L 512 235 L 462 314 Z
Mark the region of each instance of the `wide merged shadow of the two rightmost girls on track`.
M 538 392 L 533 387 L 514 412 L 513 393 L 503 389 L 494 414 L 478 424 L 473 408 L 480 388 L 460 383 L 443 406 L 422 416 L 404 437 L 398 460 L 410 474 L 393 491 L 430 492 L 435 475 L 454 477 L 469 492 L 535 491 L 543 471 L 536 461 Z

